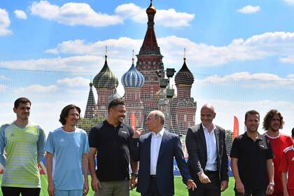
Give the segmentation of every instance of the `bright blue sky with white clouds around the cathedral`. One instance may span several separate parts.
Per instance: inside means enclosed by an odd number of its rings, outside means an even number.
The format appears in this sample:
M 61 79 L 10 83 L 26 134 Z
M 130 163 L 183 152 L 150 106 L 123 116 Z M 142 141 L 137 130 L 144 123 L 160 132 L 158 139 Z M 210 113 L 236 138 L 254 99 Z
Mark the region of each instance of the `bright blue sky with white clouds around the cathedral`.
M 1 1 L 0 123 L 14 118 L 12 102 L 20 96 L 39 106 L 32 118 L 47 131 L 59 126 L 57 117 L 65 104 L 74 102 L 84 109 L 90 78 L 104 64 L 105 45 L 119 80 L 130 68 L 132 49 L 137 54 L 145 36 L 149 3 Z M 293 0 L 155 0 L 153 6 L 165 67 L 179 70 L 183 48 L 187 50 L 187 64 L 195 76 L 197 123 L 205 102 L 216 106 L 216 123 L 226 129 L 232 129 L 232 116 L 242 122 L 248 109 L 260 111 L 263 118 L 276 108 L 285 117 L 283 132 L 290 133 Z M 122 85 L 118 92 L 123 95 Z M 47 114 L 40 115 L 43 109 Z

